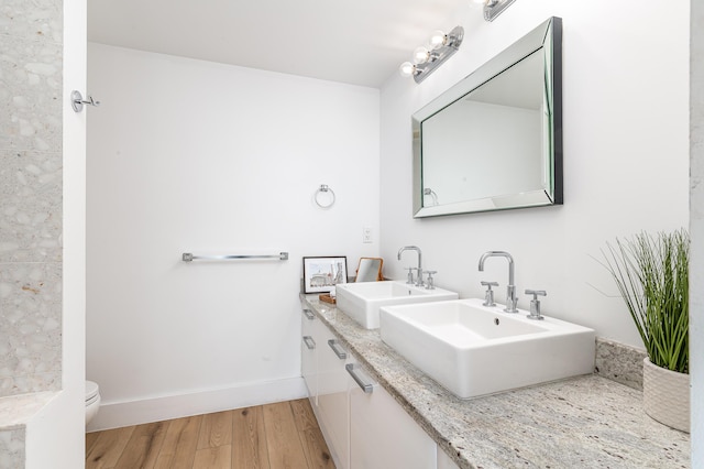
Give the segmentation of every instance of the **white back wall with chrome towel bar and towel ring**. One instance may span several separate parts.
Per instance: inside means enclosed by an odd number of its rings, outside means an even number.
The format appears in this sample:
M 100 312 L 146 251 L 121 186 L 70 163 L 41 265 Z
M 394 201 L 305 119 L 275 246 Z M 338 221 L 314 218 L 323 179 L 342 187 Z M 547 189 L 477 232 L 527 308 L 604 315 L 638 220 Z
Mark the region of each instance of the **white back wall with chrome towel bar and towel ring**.
M 301 393 L 301 258 L 346 255 L 353 275 L 378 252 L 380 91 L 101 44 L 88 81 L 87 374 L 103 403 Z

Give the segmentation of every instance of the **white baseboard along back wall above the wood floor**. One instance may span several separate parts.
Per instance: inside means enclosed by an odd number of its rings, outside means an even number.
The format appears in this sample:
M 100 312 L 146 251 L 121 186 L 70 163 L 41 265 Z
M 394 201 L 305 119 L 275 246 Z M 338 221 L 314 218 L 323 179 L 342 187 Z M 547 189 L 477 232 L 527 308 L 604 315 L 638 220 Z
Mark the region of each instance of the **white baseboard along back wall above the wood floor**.
M 302 378 L 100 405 L 87 432 L 251 407 L 308 396 Z

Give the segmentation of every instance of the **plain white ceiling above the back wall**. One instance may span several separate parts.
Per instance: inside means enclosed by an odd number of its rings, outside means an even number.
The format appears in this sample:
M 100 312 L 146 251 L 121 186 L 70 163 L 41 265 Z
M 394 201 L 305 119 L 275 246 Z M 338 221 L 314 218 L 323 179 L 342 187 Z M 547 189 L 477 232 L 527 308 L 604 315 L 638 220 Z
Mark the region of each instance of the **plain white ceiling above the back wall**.
M 378 88 L 470 0 L 91 0 L 88 40 Z

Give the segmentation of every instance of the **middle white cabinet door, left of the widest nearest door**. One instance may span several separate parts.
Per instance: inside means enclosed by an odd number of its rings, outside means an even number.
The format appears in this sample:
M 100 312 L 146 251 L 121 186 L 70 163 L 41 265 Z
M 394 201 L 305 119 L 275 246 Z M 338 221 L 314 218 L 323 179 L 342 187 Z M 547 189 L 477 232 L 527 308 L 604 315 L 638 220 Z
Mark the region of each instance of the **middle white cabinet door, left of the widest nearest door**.
M 350 406 L 348 403 L 348 373 L 344 366 L 348 353 L 337 338 L 320 324 L 318 342 L 318 408 L 320 427 L 328 441 L 338 469 L 350 467 Z

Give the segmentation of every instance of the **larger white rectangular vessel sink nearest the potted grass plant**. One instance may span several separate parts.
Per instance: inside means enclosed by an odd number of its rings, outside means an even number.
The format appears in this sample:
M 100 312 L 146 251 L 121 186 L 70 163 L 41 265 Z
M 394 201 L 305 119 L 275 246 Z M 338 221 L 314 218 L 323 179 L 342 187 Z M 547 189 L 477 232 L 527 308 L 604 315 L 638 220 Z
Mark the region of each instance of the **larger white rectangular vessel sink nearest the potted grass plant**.
M 382 340 L 460 399 L 594 371 L 593 329 L 457 299 L 381 309 Z

